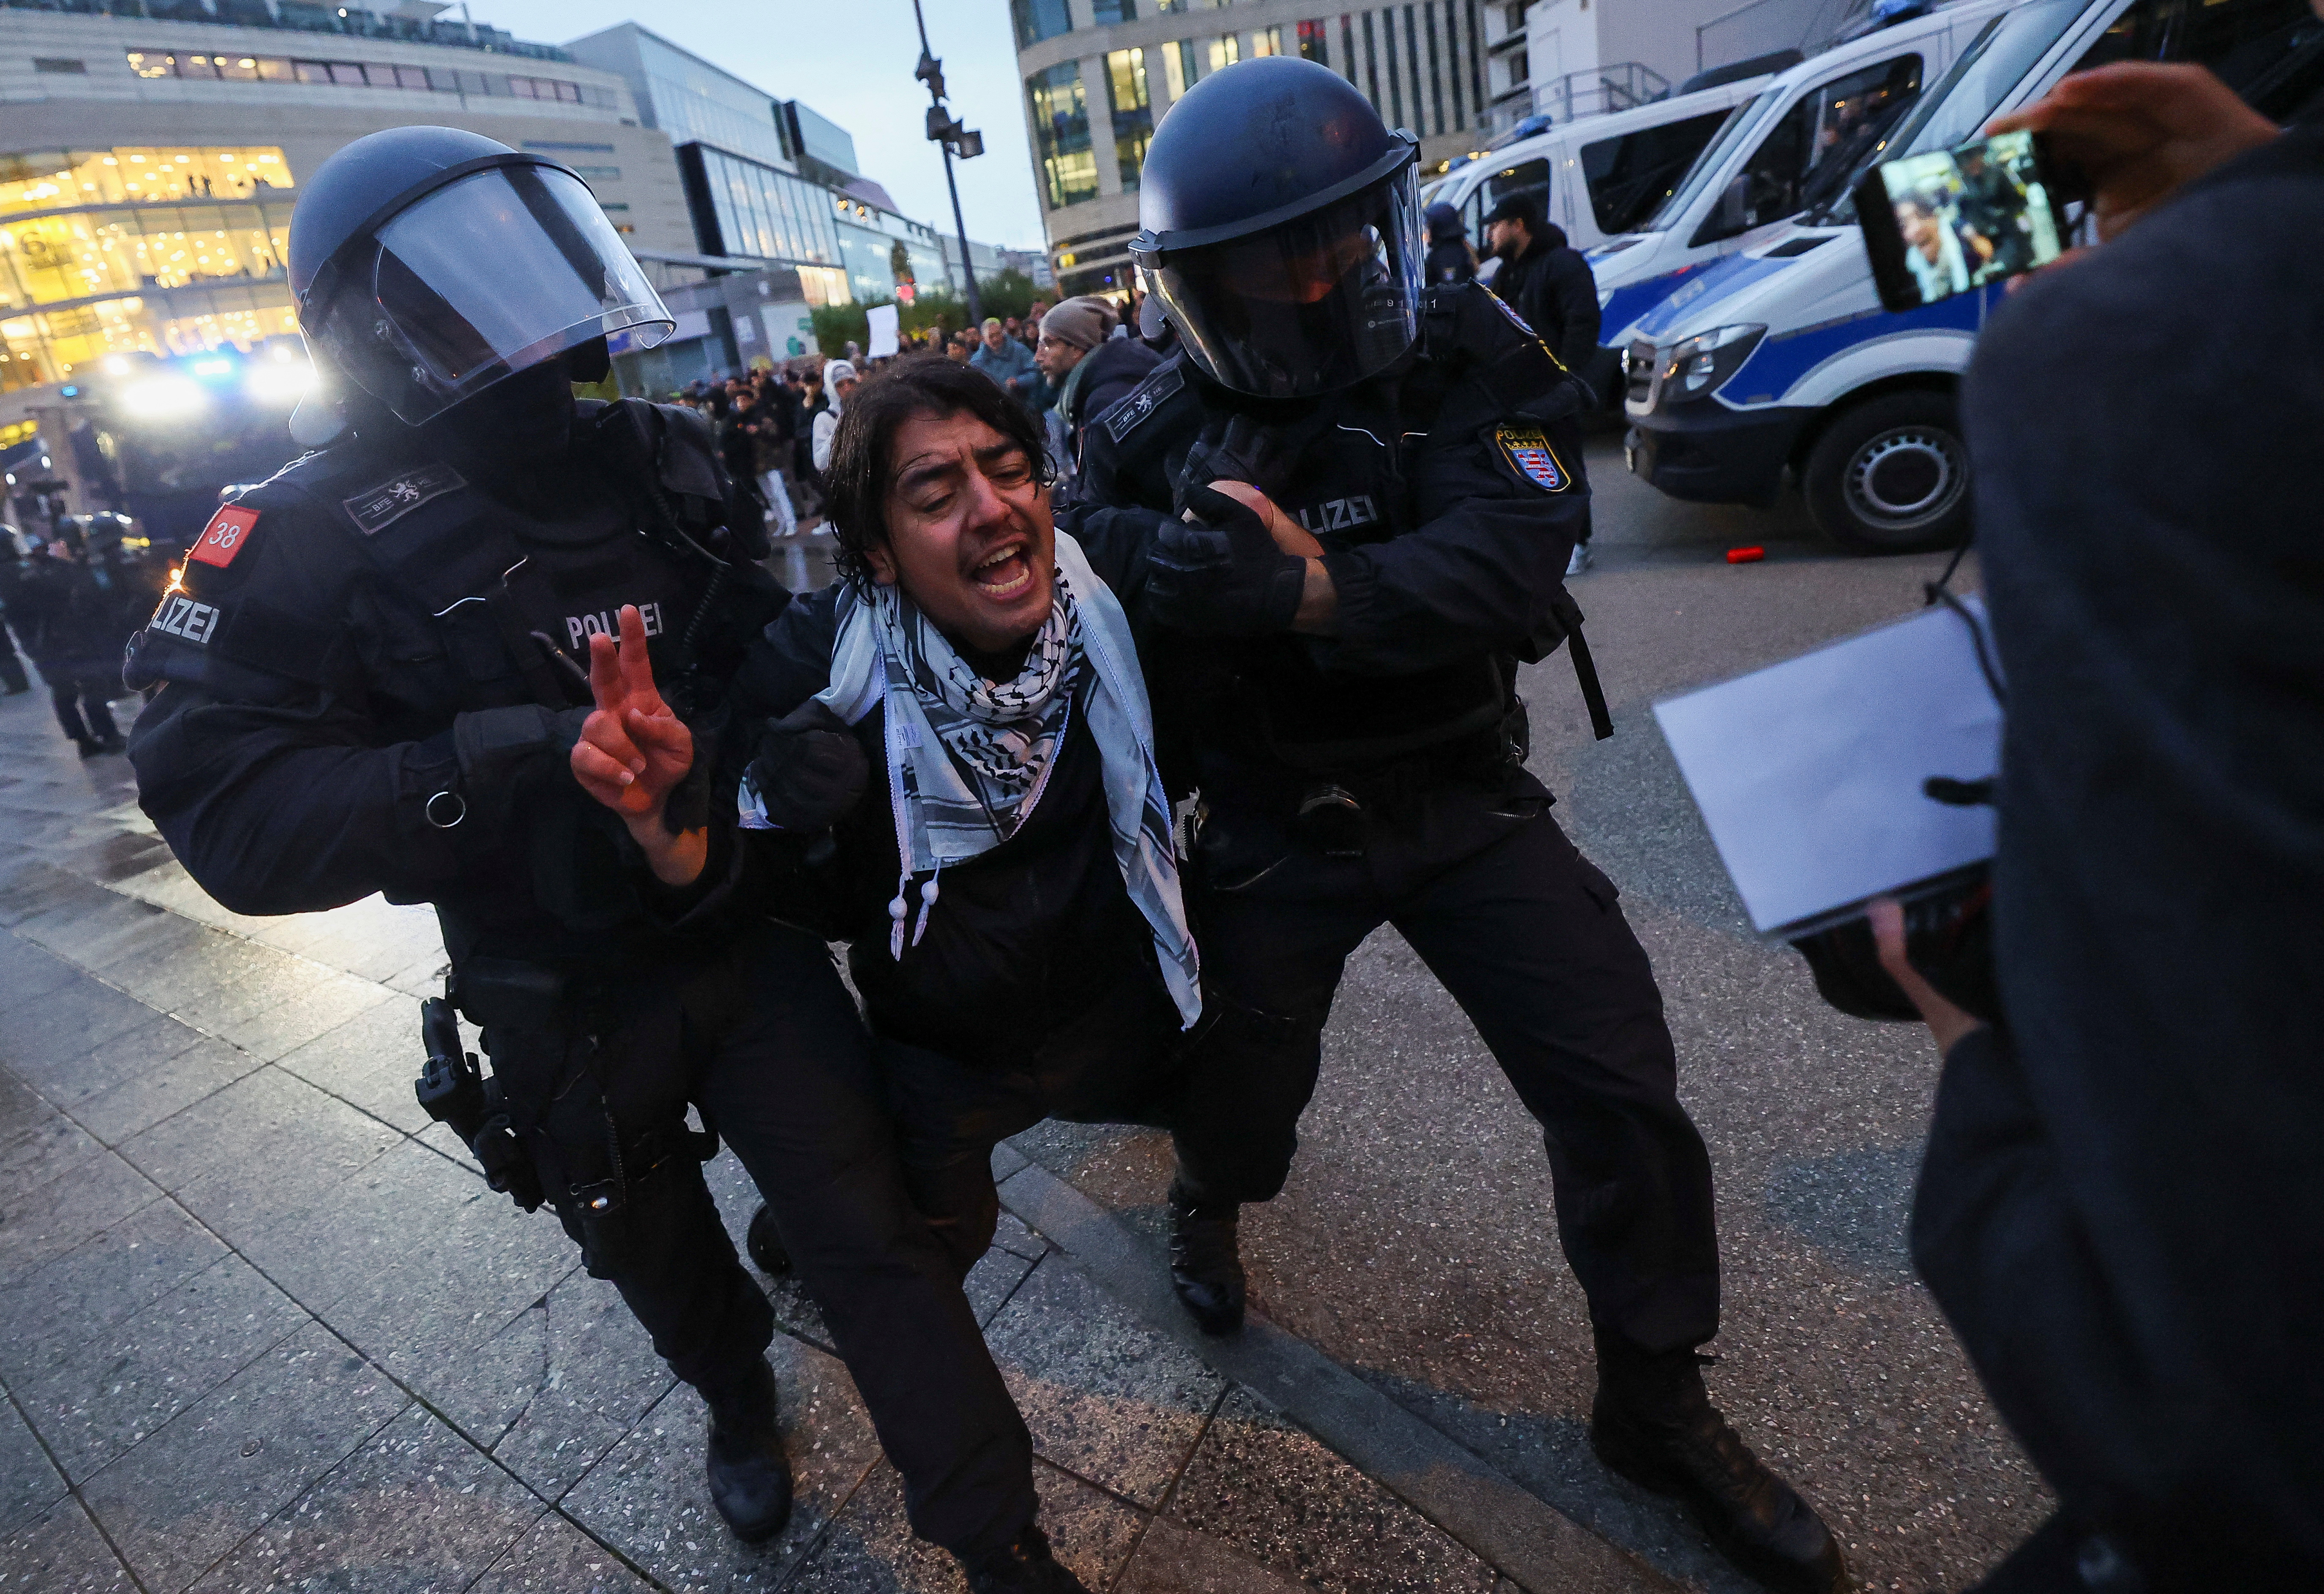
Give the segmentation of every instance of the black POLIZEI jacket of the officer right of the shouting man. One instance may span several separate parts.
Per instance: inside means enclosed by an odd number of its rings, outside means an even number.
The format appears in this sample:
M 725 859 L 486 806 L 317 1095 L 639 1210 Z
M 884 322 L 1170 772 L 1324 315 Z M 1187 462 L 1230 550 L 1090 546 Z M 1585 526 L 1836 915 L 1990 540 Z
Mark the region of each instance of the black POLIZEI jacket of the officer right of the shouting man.
M 1578 618 L 1566 555 L 1587 516 L 1578 390 L 1476 283 L 1422 295 L 1420 346 L 1318 400 L 1250 400 L 1164 360 L 1083 446 L 1085 502 L 1169 509 L 1195 474 L 1255 481 L 1325 546 L 1334 637 L 1171 637 L 1148 669 L 1206 797 L 1285 788 L 1494 734 L 1518 658 Z M 1222 462 L 1243 416 L 1257 458 Z M 1267 797 L 1267 802 L 1274 802 Z

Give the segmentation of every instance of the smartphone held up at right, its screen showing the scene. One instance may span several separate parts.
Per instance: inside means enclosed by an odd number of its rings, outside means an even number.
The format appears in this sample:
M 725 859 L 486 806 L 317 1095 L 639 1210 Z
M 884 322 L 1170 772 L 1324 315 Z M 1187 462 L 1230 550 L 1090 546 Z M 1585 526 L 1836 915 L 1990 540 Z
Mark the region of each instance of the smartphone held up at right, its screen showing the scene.
M 2050 265 L 2066 251 L 2066 207 L 2036 132 L 1906 156 L 1857 179 L 1857 221 L 1889 309 Z

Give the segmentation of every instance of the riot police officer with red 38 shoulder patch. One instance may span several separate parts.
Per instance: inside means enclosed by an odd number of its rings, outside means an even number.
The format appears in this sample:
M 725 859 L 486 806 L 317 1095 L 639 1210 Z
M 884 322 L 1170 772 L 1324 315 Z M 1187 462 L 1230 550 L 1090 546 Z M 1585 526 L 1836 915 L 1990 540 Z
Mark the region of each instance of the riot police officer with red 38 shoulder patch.
M 865 1218 L 902 1206 L 862 1194 L 899 1176 L 830 955 L 658 897 L 569 771 L 590 637 L 634 609 L 669 706 L 713 734 L 783 604 L 697 416 L 572 395 L 607 374 L 609 332 L 667 335 L 669 311 L 576 174 L 451 128 L 325 160 L 293 214 L 290 283 L 321 383 L 293 435 L 321 451 L 216 511 L 132 646 L 132 683 L 165 683 L 130 748 L 146 813 L 237 911 L 437 906 L 449 997 L 493 1062 L 446 1120 L 495 1187 L 555 1208 L 702 1392 L 737 1536 L 790 1513 L 774 1315 L 711 1204 L 716 1141 L 688 1101 L 786 1236 L 813 1241 L 792 1245 L 799 1269 L 916 1506 L 941 1515 L 962 1450 L 995 1429 L 1009 1450 L 1023 1424 L 981 1345 L 981 1371 L 862 1362 L 865 1324 L 909 1336 L 964 1306 L 932 1236 Z M 704 823 L 695 774 L 660 809 L 679 834 Z M 435 1050 L 458 1083 L 458 1032 Z M 918 1338 L 941 1348 L 951 1327 Z

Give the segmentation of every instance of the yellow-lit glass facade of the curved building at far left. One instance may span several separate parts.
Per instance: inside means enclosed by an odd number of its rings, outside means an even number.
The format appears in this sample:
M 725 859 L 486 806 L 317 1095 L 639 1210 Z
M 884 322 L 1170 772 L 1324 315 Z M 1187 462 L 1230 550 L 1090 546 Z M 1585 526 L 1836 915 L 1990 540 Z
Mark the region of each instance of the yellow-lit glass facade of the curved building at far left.
M 297 330 L 279 149 L 0 153 L 0 390 Z

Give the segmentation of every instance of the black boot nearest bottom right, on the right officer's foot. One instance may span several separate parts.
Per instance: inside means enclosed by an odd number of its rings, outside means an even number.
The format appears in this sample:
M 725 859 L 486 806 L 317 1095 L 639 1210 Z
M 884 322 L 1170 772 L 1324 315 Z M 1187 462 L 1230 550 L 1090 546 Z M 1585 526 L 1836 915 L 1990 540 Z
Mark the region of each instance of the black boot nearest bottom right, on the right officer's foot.
M 1848 1564 L 1815 1508 L 1750 1452 L 1703 1390 L 1692 1350 L 1599 1336 L 1590 1448 L 1641 1489 L 1678 1499 L 1720 1554 L 1783 1594 L 1845 1594 Z

